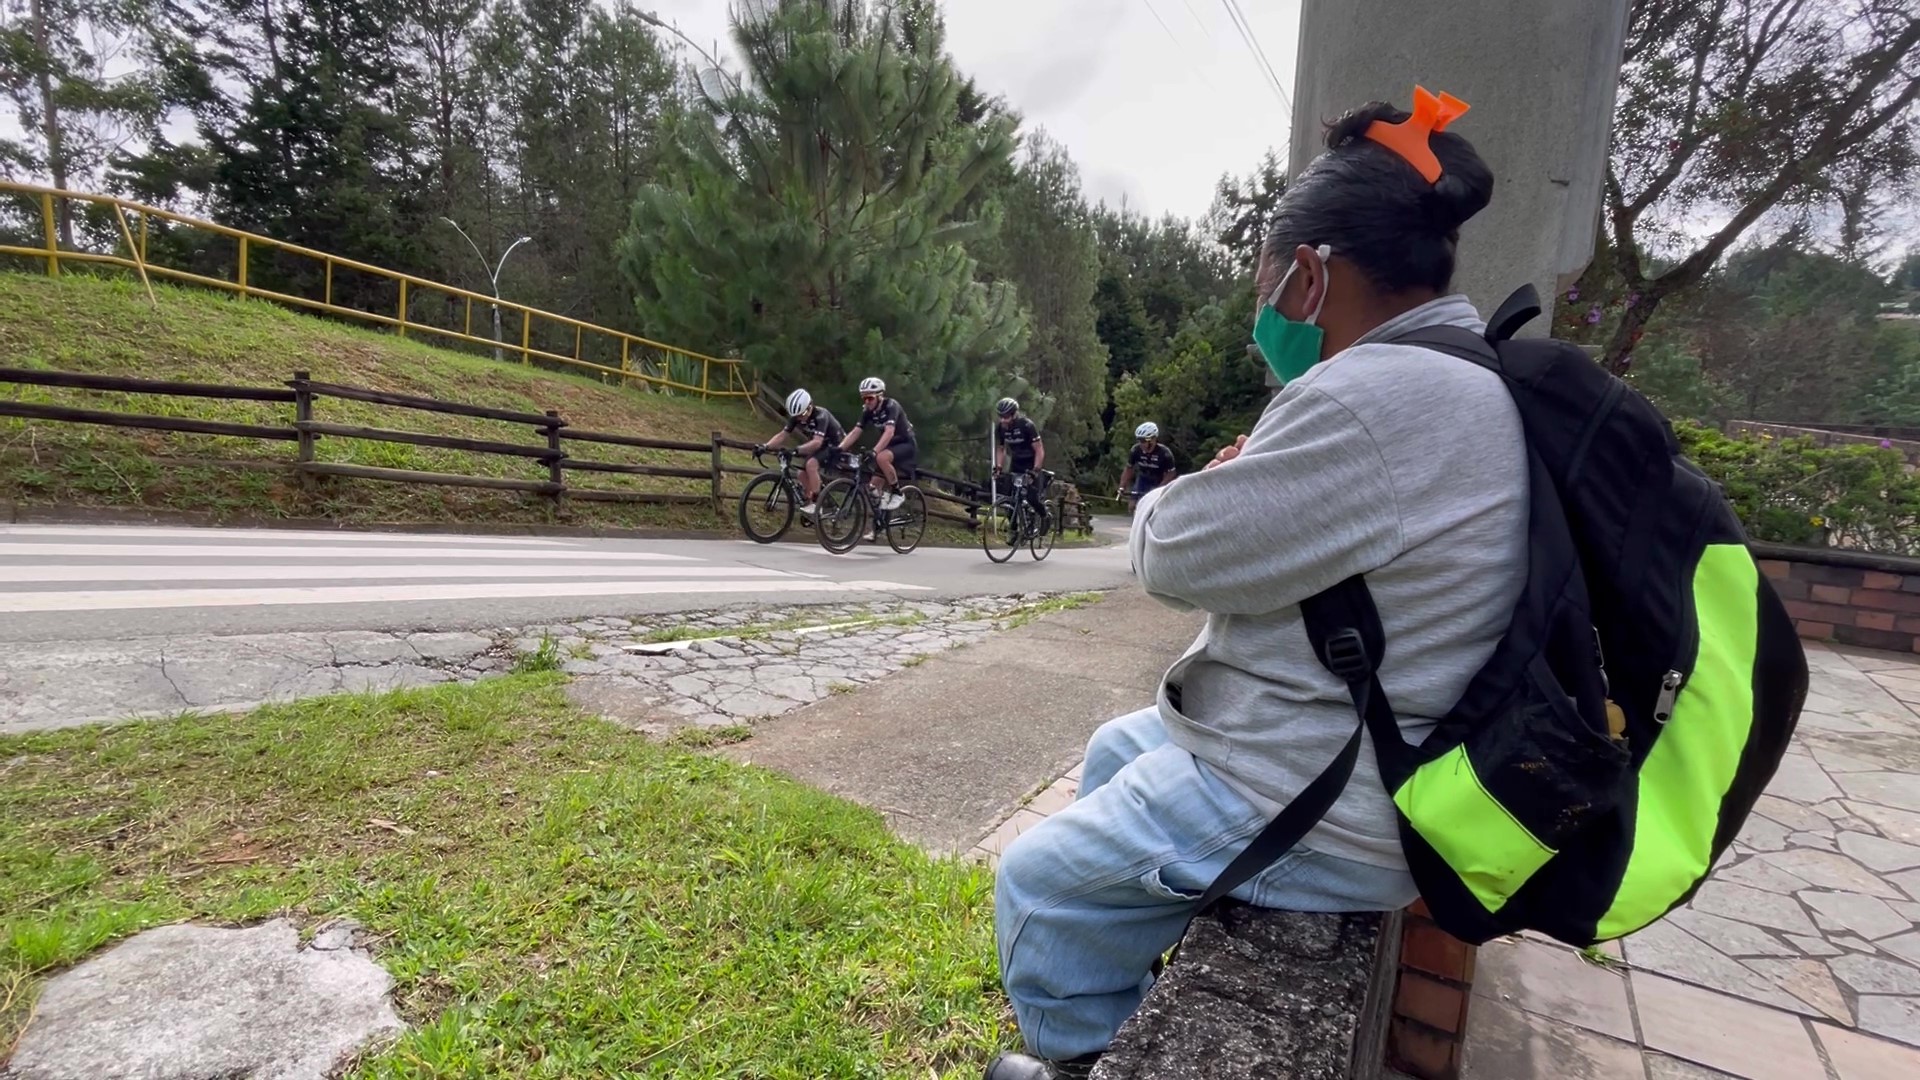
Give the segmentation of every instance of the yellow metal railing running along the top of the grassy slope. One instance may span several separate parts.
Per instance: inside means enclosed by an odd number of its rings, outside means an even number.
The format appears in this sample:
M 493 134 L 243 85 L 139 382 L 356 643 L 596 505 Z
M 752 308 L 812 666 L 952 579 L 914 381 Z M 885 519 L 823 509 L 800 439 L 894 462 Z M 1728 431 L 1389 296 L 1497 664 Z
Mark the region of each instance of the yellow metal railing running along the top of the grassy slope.
M 38 204 L 40 211 L 40 238 L 38 248 L 25 248 L 13 244 L 0 244 L 0 256 L 23 256 L 31 259 L 44 259 L 46 273 L 60 277 L 63 263 L 96 263 L 96 265 L 115 265 L 131 269 L 140 275 L 142 282 L 148 282 L 152 290 L 152 279 L 163 277 L 171 281 L 186 281 L 194 284 L 204 284 L 209 288 L 223 288 L 227 292 L 238 292 L 242 296 L 253 296 L 259 300 L 273 300 L 278 304 L 290 304 L 294 307 L 307 307 L 315 311 L 326 311 L 330 315 L 340 315 L 346 319 L 357 319 L 363 323 L 376 323 L 394 329 L 399 336 L 409 332 L 434 334 L 442 338 L 451 338 L 459 342 L 468 342 L 476 346 L 493 348 L 495 352 L 507 352 L 520 357 L 520 363 L 532 363 L 534 359 L 543 359 L 549 363 L 559 363 L 566 367 L 578 367 L 603 377 L 618 377 L 624 380 L 641 382 L 647 386 L 657 386 L 664 390 L 678 390 L 685 394 L 701 394 L 705 398 L 751 398 L 756 394 L 755 380 L 747 371 L 745 363 L 739 359 L 726 359 L 718 356 L 707 356 L 668 344 L 660 344 L 637 334 L 628 334 L 609 327 L 599 327 L 595 323 L 586 323 L 582 319 L 570 319 L 566 315 L 557 315 L 553 311 L 541 311 L 540 307 L 528 307 L 526 304 L 515 304 L 511 300 L 495 300 L 482 292 L 472 292 L 467 288 L 457 288 L 451 284 L 442 284 L 438 281 L 426 281 L 422 277 L 390 271 L 384 267 L 361 263 L 357 259 L 348 259 L 342 256 L 330 256 L 326 252 L 315 252 L 311 248 L 301 248 L 298 244 L 282 244 L 269 236 L 259 236 L 255 233 L 246 233 L 242 229 L 228 229 L 227 225 L 217 225 L 213 221 L 204 221 L 200 217 L 186 217 L 184 213 L 173 213 L 171 209 L 159 209 L 144 206 L 138 202 L 88 194 L 88 192 L 69 192 L 60 188 L 46 188 L 38 184 L 19 184 L 12 181 L 0 181 L 0 192 L 27 196 Z M 88 204 L 111 209 L 121 242 L 127 254 L 119 254 L 119 246 L 111 252 L 84 252 L 67 250 L 60 246 L 56 229 L 56 204 L 67 200 L 67 204 Z M 134 225 L 129 223 L 129 213 L 138 217 L 138 234 Z M 148 223 L 150 221 L 171 221 L 175 225 L 184 225 L 188 229 L 202 229 L 217 236 L 228 236 L 238 242 L 238 254 L 234 259 L 234 279 L 207 277 L 194 271 L 184 271 L 148 259 Z M 323 296 L 313 300 L 309 296 L 294 296 L 290 292 L 276 292 L 273 288 L 261 288 L 248 281 L 248 263 L 252 256 L 259 252 L 286 252 L 290 256 L 317 259 L 323 265 Z M 355 273 L 365 273 L 380 281 L 390 281 L 399 286 L 399 304 L 392 315 L 378 311 L 363 311 L 359 307 L 344 307 L 334 304 L 334 271 L 348 269 Z M 461 329 L 436 327 L 432 323 L 411 319 L 409 302 L 420 300 L 422 294 L 445 296 L 453 302 L 465 302 L 465 317 Z M 499 307 L 503 315 L 511 313 L 518 317 L 520 334 L 518 342 L 495 340 L 472 332 L 474 306 L 480 306 L 482 313 L 490 307 Z M 574 354 L 566 356 L 561 352 L 549 352 L 534 346 L 536 331 L 545 331 L 547 327 L 572 329 Z M 586 357 L 586 346 L 589 338 L 595 346 L 607 344 L 609 352 L 612 344 L 620 348 L 620 363 L 599 363 Z M 699 367 L 695 373 L 693 369 Z

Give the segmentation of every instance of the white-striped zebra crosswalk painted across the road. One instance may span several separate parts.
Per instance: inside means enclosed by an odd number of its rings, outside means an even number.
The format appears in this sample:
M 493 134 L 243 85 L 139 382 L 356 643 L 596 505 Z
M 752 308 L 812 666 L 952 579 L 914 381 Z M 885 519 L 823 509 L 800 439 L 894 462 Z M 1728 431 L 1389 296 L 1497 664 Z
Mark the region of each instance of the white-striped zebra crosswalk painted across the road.
M 724 544 L 659 548 L 666 544 L 17 525 L 0 527 L 0 613 L 922 588 L 749 565 Z

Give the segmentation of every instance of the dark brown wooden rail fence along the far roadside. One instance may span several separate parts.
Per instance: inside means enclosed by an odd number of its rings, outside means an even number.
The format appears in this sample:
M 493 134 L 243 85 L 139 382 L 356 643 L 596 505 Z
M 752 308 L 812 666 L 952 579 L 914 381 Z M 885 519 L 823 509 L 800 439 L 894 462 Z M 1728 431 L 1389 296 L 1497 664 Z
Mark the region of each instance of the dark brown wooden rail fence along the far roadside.
M 121 375 L 84 375 L 75 371 L 31 371 L 19 367 L 0 367 L 0 382 L 25 386 L 58 386 L 69 390 L 121 392 L 121 394 L 159 394 L 173 398 L 202 398 L 228 402 L 265 402 L 292 405 L 292 421 L 278 425 L 207 421 L 194 417 L 161 417 L 144 413 L 125 413 L 109 409 L 84 409 L 75 405 L 52 405 L 36 402 L 0 400 L 0 417 L 21 417 L 50 423 L 106 425 L 123 429 L 165 430 L 184 434 L 221 434 L 232 438 L 261 438 L 296 444 L 296 459 L 290 465 L 303 484 L 317 484 L 323 477 L 355 480 L 384 480 L 396 484 L 445 484 L 459 488 L 488 488 L 503 492 L 522 492 L 543 496 L 564 509 L 568 500 L 605 503 L 655 503 L 655 505 L 699 505 L 710 503 L 714 511 L 726 511 L 728 503 L 739 498 L 739 490 L 728 490 L 728 477 L 756 477 L 764 469 L 735 465 L 726 461 L 726 450 L 753 450 L 751 442 L 726 438 L 712 432 L 705 442 L 684 442 L 666 438 L 643 438 L 632 434 L 612 434 L 601 430 L 580 430 L 566 423 L 559 411 L 522 413 L 515 409 L 495 409 L 488 405 L 468 405 L 461 402 L 442 402 L 413 394 L 392 394 L 369 390 L 365 386 L 344 386 L 338 382 L 317 382 L 305 371 L 296 371 L 284 388 L 278 386 L 223 386 L 211 382 L 171 382 L 157 379 L 131 379 Z M 505 442 L 488 438 L 467 438 L 453 434 L 434 434 L 422 430 L 396 430 L 363 425 L 340 425 L 315 419 L 315 404 L 324 400 L 361 402 L 420 413 L 438 413 L 484 421 L 501 421 L 532 429 L 532 442 Z M 321 461 L 317 455 L 323 438 L 355 438 L 371 442 L 390 442 L 405 446 L 430 446 L 440 450 L 461 450 L 468 454 L 493 454 L 518 457 L 545 469 L 543 479 L 515 477 L 472 477 L 465 473 L 428 473 L 417 469 L 388 469 L 378 465 L 349 465 L 340 461 Z M 655 450 L 689 455 L 687 465 L 639 465 L 622 461 L 595 461 L 576 455 L 588 446 L 620 446 L 634 450 Z M 697 463 L 695 463 L 697 461 Z M 707 492 L 647 492 L 576 486 L 572 475 L 628 475 L 660 477 L 680 480 L 707 480 Z M 987 488 L 970 480 L 941 477 L 925 469 L 920 471 L 922 492 L 927 496 L 927 517 L 947 521 L 964 528 L 975 527 L 977 511 L 987 503 Z M 943 490 L 945 488 L 945 490 Z M 1073 528 L 1091 532 L 1092 521 L 1079 502 L 1079 492 L 1071 484 L 1060 484 L 1054 500 L 1056 532 Z

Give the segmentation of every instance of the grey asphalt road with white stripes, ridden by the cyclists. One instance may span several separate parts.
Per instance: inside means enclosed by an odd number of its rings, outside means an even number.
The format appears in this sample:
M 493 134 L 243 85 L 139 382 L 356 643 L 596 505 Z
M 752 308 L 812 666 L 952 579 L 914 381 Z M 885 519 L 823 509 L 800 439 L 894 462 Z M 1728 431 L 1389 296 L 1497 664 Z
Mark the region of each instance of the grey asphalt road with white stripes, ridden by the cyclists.
M 465 630 L 851 596 L 1114 588 L 1119 546 L 993 565 L 979 548 L 829 555 L 749 540 L 0 527 L 0 642 Z

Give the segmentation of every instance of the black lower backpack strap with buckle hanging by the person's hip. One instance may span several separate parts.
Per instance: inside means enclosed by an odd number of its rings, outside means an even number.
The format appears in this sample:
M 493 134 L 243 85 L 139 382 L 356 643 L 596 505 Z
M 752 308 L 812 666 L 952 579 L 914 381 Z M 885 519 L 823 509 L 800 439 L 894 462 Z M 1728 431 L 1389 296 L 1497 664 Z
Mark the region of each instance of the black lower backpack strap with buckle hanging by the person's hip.
M 1359 575 L 1350 577 L 1327 592 L 1304 600 L 1300 615 L 1306 619 L 1313 655 L 1319 657 L 1327 671 L 1346 682 L 1359 723 L 1354 724 L 1354 734 L 1348 736 L 1346 746 L 1340 748 L 1332 763 L 1294 796 L 1294 801 L 1286 803 L 1254 836 L 1254 842 L 1233 863 L 1227 863 L 1227 869 L 1213 878 L 1213 884 L 1200 894 L 1200 911 L 1213 907 L 1227 894 L 1281 861 L 1281 855 L 1292 851 L 1327 817 L 1327 811 L 1332 809 L 1332 803 L 1338 801 L 1340 792 L 1346 790 L 1348 780 L 1354 776 L 1354 765 L 1359 761 L 1361 730 L 1373 734 L 1373 751 L 1380 759 L 1380 774 L 1398 773 L 1390 761 L 1400 759 L 1405 740 L 1400 736 L 1394 709 L 1386 703 L 1386 692 L 1380 688 L 1379 661 L 1384 651 L 1386 632 L 1380 628 L 1380 613 L 1373 605 L 1373 594 L 1367 590 L 1365 578 Z

